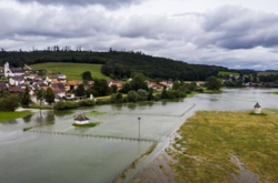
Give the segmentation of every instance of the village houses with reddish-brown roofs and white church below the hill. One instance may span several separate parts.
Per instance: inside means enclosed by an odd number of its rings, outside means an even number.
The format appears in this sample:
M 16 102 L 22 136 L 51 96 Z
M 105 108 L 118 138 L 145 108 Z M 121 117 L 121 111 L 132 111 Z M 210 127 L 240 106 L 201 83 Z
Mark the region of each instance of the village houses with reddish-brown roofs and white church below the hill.
M 81 74 L 81 73 L 80 73 Z M 10 93 L 24 93 L 26 88 L 29 88 L 31 102 L 39 103 L 37 99 L 36 91 L 42 89 L 47 91 L 48 88 L 51 88 L 54 93 L 54 102 L 70 100 L 70 101 L 80 101 L 85 99 L 96 100 L 93 95 L 89 98 L 87 95 L 77 96 L 75 90 L 78 85 L 83 84 L 85 89 L 88 90 L 93 87 L 93 81 L 87 81 L 86 83 L 82 80 L 67 80 L 64 74 L 48 75 L 47 70 L 33 70 L 32 68 L 26 65 L 24 69 L 21 68 L 11 68 L 8 62 L 4 63 L 3 70 L 0 70 L 0 75 L 2 80 L 0 81 L 0 92 L 7 90 Z M 44 75 L 44 77 L 42 77 Z M 6 81 L 3 81 L 3 78 Z M 129 79 L 126 82 L 130 82 L 132 79 Z M 125 81 L 107 81 L 108 87 L 117 87 L 117 90 L 122 89 Z M 167 90 L 172 89 L 172 81 L 161 81 L 159 83 L 152 81 L 146 81 L 149 89 L 152 89 L 153 92 L 160 92 L 166 88 Z M 203 82 L 197 82 L 197 85 L 202 85 Z M 43 101 L 42 103 L 46 103 Z M 47 103 L 46 103 L 47 104 Z

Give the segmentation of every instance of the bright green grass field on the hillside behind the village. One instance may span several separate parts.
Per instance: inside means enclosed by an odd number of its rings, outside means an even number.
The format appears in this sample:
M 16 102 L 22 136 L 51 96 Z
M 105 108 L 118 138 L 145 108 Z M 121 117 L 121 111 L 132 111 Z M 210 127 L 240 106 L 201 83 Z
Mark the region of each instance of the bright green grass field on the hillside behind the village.
M 48 74 L 62 73 L 67 75 L 67 80 L 81 80 L 81 74 L 85 71 L 90 71 L 93 79 L 106 79 L 109 80 L 109 77 L 106 77 L 101 73 L 101 64 L 87 64 L 87 63 L 61 63 L 61 62 L 48 62 L 30 65 L 32 69 L 46 69 Z

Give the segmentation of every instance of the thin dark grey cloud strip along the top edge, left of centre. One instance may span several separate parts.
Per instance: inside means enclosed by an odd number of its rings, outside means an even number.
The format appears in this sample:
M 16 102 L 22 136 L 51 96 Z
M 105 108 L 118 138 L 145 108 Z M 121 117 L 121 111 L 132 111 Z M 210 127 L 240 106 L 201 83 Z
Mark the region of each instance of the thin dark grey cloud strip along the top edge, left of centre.
M 89 6 L 100 4 L 109 9 L 117 9 L 121 6 L 138 3 L 140 0 L 17 0 L 23 3 L 38 2 L 41 4 L 62 4 L 62 6 Z

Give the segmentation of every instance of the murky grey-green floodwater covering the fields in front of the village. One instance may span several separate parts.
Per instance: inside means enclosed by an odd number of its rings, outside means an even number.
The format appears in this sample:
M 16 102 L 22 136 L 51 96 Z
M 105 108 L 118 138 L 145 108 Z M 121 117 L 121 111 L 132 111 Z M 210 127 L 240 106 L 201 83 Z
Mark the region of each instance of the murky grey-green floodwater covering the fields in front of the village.
M 221 94 L 197 94 L 181 101 L 101 105 L 82 110 L 41 111 L 0 124 L 0 182 L 111 182 L 152 141 L 158 148 L 131 171 L 125 182 L 140 173 L 168 144 L 176 130 L 199 110 L 252 110 L 278 108 L 276 89 L 226 89 Z M 99 115 L 92 111 L 103 112 Z M 91 129 L 75 128 L 85 113 Z M 139 121 L 140 120 L 140 138 Z M 36 126 L 28 132 L 23 128 Z

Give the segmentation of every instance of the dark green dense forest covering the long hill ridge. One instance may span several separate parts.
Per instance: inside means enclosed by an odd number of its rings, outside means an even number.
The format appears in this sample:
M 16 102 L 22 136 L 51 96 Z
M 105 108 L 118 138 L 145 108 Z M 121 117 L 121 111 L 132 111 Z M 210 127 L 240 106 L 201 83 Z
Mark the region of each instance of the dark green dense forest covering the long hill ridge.
M 148 78 L 172 80 L 205 81 L 208 77 L 218 75 L 227 68 L 203 64 L 188 64 L 166 58 L 146 55 L 141 52 L 108 52 L 47 49 L 43 51 L 0 51 L 0 65 L 9 61 L 12 67 L 23 67 L 43 62 L 75 62 L 103 64 L 102 72 L 111 78 L 130 77 L 133 72 Z

